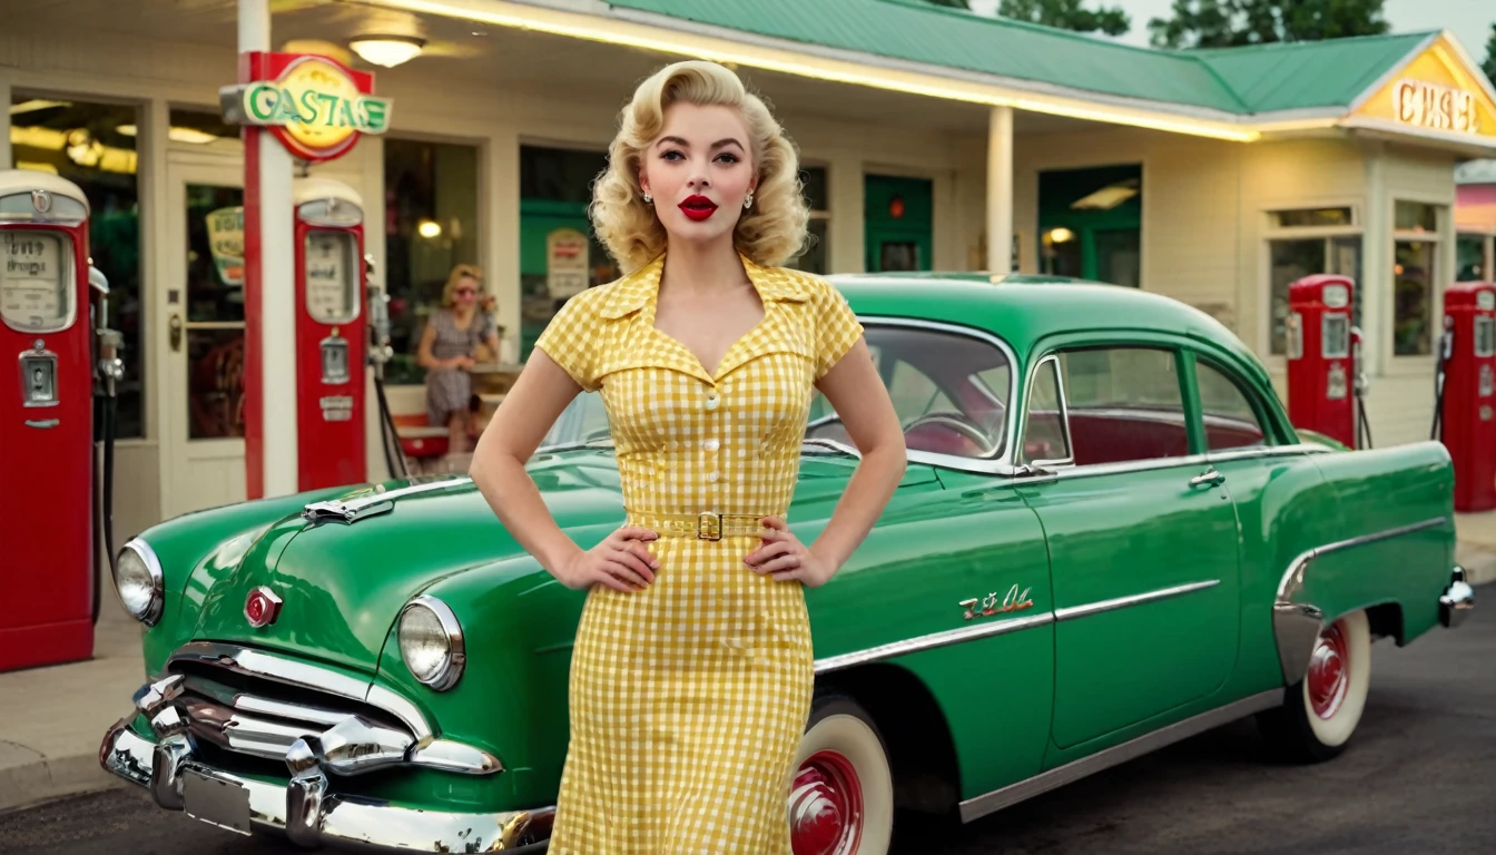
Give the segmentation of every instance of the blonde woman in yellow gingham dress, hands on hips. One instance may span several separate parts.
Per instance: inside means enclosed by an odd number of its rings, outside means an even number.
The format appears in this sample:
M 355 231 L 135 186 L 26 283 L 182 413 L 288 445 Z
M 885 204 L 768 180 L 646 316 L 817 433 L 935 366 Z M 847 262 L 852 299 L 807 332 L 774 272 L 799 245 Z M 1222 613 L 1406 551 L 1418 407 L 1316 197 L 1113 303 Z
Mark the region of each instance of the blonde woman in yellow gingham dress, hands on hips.
M 788 855 L 814 681 L 805 587 L 883 512 L 904 434 L 862 326 L 824 280 L 775 265 L 806 240 L 797 156 L 715 63 L 646 79 L 622 111 L 592 222 L 622 279 L 567 301 L 479 439 L 471 475 L 521 545 L 588 590 L 552 855 Z M 785 524 L 814 388 L 862 461 L 806 547 Z M 600 391 L 627 520 L 589 550 L 525 461 Z M 702 514 L 720 539 L 699 529 Z

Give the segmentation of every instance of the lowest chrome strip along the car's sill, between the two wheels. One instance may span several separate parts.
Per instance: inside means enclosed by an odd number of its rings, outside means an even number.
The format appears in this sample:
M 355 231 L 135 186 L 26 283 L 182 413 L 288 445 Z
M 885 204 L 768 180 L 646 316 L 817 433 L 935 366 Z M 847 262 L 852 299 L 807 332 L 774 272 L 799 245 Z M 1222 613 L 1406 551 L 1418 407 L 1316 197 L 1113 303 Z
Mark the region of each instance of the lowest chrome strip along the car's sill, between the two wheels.
M 1254 713 L 1272 710 L 1282 702 L 1284 690 L 1272 689 L 1258 695 L 1242 698 L 1240 701 L 1233 701 L 1225 707 L 1218 707 L 1215 710 L 1200 713 L 1198 716 L 1191 716 L 1182 722 L 1174 722 L 1167 728 L 1143 734 L 1141 737 L 1128 740 L 1121 746 L 1112 746 L 1110 749 L 1071 761 L 1062 767 L 1052 768 L 1002 789 L 995 789 L 992 792 L 968 798 L 960 803 L 960 821 L 971 822 L 972 819 L 1002 810 L 1004 807 L 1011 807 L 1020 801 L 1026 801 L 1035 795 L 1065 786 L 1067 783 L 1077 782 L 1086 776 L 1125 764 L 1146 753 L 1156 752 L 1158 749 L 1180 740 L 1188 740 L 1189 737 L 1219 728 L 1221 725 L 1231 723 Z

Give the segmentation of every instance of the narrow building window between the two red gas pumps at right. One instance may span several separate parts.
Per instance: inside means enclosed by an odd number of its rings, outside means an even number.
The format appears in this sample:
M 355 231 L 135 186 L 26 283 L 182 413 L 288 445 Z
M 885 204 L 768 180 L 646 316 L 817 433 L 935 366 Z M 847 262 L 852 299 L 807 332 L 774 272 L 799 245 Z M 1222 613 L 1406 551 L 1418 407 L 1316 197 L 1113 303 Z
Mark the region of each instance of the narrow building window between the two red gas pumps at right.
M 1439 282 L 1439 207 L 1399 201 L 1393 223 L 1393 355 L 1427 356 Z

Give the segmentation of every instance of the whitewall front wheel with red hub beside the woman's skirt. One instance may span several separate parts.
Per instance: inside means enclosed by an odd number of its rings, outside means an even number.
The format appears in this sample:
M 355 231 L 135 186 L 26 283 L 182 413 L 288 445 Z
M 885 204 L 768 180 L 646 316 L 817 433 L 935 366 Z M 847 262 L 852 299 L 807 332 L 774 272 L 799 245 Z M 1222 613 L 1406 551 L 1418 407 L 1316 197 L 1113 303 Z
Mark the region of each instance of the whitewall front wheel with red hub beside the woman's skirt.
M 893 837 L 893 771 L 856 701 L 817 693 L 790 788 L 794 855 L 884 855 Z

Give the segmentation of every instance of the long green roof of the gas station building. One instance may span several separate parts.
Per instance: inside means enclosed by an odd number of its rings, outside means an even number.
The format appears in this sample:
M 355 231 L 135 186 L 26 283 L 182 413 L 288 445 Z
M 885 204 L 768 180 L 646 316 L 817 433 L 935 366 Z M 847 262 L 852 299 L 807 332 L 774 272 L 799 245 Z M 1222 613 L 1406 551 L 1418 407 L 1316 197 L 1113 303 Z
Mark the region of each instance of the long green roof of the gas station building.
M 1162 51 L 923 0 L 609 0 L 711 27 L 1236 115 L 1348 106 L 1433 33 Z

